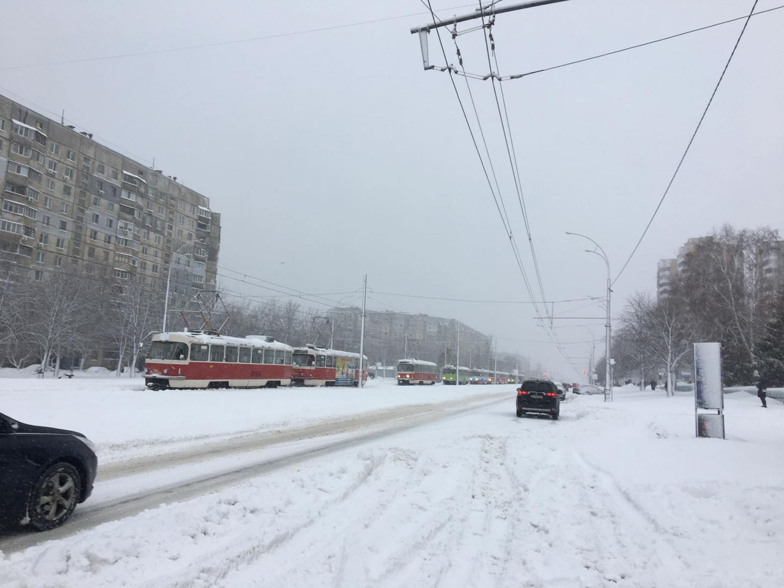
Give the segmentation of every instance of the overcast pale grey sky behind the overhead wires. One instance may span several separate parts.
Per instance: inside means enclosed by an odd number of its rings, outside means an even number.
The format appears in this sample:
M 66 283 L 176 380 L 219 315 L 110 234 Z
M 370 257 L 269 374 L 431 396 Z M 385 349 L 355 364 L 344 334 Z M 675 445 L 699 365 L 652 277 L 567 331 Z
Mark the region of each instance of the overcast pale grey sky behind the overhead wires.
M 506 2 L 505 2 L 506 3 Z M 442 17 L 470 12 L 439 0 Z M 572 0 L 499 15 L 501 74 L 549 67 L 743 16 L 752 0 Z M 760 0 L 757 10 L 778 5 Z M 307 292 L 528 299 L 448 74 L 423 71 L 409 28 L 425 14 L 267 40 L 78 64 L 28 64 L 421 13 L 405 2 L 6 2 L 0 92 L 71 124 L 209 196 L 223 215 L 220 265 Z M 466 28 L 467 25 L 464 26 Z M 742 27 L 713 27 L 504 82 L 547 299 L 601 296 L 702 114 Z M 784 9 L 754 17 L 648 237 L 615 284 L 613 307 L 655 289 L 656 262 L 721 223 L 784 229 Z M 444 36 L 450 63 L 454 45 Z M 486 74 L 481 33 L 458 38 Z M 430 56 L 443 64 L 437 39 Z M 457 78 L 467 106 L 465 82 Z M 524 263 L 530 252 L 490 82 L 471 82 Z M 50 114 L 45 112 L 45 114 Z M 473 121 L 472 121 L 473 122 Z M 285 262 L 285 263 L 284 263 Z M 264 294 L 224 281 L 230 289 Z M 535 292 L 539 293 L 538 286 Z M 531 305 L 371 294 L 368 306 L 459 318 L 572 379 Z M 341 299 L 343 296 L 330 296 Z M 344 303 L 358 303 L 347 296 Z M 595 305 L 555 313 L 599 317 Z M 614 313 L 615 314 L 615 313 Z M 557 326 L 602 321 L 556 321 Z M 558 328 L 564 342 L 585 328 Z M 587 346 L 568 345 L 585 357 Z M 597 350 L 597 356 L 601 350 Z M 584 361 L 580 360 L 580 367 Z

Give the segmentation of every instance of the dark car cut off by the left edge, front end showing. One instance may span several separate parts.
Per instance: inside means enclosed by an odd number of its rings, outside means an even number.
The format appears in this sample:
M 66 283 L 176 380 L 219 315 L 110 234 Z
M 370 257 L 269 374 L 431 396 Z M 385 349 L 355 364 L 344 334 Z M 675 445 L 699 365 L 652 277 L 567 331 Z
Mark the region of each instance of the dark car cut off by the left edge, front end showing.
M 93 492 L 92 441 L 72 430 L 20 423 L 0 413 L 0 524 L 45 531 Z

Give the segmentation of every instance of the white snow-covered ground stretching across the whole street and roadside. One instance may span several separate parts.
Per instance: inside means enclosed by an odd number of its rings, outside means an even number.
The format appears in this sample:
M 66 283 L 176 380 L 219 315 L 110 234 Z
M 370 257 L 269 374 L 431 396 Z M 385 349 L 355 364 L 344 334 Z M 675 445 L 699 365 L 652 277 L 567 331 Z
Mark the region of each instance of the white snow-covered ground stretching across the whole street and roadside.
M 784 585 L 784 404 L 742 391 L 725 397 L 721 441 L 694 438 L 688 394 L 658 390 L 570 395 L 550 421 L 517 419 L 514 387 L 2 384 L 2 412 L 99 443 L 82 520 L 155 480 L 241 470 L 206 495 L 34 535 L 0 556 L 2 586 Z

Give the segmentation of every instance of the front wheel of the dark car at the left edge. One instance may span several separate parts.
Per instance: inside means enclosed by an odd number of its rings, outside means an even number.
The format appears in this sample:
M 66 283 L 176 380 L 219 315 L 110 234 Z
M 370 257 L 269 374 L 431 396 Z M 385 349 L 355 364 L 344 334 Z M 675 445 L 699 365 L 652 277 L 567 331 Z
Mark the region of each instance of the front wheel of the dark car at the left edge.
M 30 526 L 38 531 L 67 521 L 82 492 L 82 477 L 70 463 L 56 463 L 38 477 L 27 502 Z

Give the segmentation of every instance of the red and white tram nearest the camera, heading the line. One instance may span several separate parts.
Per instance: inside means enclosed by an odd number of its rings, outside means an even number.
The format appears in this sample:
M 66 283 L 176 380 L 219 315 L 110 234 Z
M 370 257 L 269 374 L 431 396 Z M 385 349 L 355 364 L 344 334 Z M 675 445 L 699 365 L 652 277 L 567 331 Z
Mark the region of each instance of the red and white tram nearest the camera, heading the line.
M 153 390 L 289 386 L 293 350 L 272 337 L 162 332 L 152 337 L 144 381 Z

